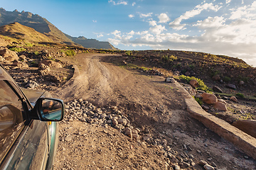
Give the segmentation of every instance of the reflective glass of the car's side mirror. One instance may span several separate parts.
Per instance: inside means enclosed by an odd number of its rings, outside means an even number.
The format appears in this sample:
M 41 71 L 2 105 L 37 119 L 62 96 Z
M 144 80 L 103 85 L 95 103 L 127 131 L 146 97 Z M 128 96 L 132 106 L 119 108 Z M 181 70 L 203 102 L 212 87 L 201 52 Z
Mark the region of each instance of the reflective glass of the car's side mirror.
M 53 99 L 43 99 L 41 116 L 43 119 L 58 121 L 63 118 L 63 103 Z

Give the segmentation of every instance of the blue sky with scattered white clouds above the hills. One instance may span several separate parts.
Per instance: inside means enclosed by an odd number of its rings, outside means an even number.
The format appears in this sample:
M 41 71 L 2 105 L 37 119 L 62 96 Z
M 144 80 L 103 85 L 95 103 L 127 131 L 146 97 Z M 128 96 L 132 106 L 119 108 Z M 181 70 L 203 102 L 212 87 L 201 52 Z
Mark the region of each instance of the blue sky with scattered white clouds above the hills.
M 238 57 L 256 67 L 253 0 L 0 0 L 68 35 L 109 41 L 120 50 L 189 50 Z

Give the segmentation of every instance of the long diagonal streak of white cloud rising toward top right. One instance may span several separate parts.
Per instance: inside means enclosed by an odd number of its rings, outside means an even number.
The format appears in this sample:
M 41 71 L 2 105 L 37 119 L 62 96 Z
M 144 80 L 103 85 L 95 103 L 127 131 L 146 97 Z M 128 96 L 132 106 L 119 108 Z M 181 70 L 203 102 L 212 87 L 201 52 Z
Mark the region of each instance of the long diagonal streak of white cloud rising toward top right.
M 169 26 L 171 28 L 174 28 L 174 30 L 182 30 L 185 29 L 184 27 L 186 26 L 186 24 L 181 24 L 181 21 L 183 20 L 187 20 L 188 18 L 192 18 L 194 16 L 197 16 L 198 14 L 200 14 L 203 10 L 212 10 L 212 11 L 218 11 L 221 7 L 219 7 L 218 5 L 213 5 L 213 3 L 206 3 L 206 4 L 200 4 L 198 6 L 196 6 L 195 8 L 193 8 L 193 10 L 191 11 L 186 11 L 186 13 L 184 13 L 182 16 L 176 18 L 174 21 L 172 21 L 171 23 L 169 23 Z

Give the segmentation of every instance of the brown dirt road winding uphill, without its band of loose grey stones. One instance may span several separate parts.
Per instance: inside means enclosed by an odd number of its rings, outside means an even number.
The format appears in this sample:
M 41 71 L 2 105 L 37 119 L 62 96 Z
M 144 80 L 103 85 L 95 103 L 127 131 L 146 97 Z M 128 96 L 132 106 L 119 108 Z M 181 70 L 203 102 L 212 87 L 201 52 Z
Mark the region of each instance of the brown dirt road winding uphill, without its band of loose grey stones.
M 116 57 L 80 54 L 62 58 L 77 65 L 79 74 L 55 96 L 65 102 L 82 98 L 99 108 L 117 106 L 142 130 L 142 136 L 152 140 L 129 140 L 110 126 L 66 120 L 60 124 L 56 169 L 175 169 L 174 164 L 203 169 L 200 160 L 218 169 L 255 169 L 255 160 L 189 117 L 184 101 L 188 94 L 179 84 L 166 84 L 164 77 L 111 64 Z M 68 135 L 73 140 L 64 140 Z M 163 146 L 176 152 L 178 162 L 166 157 Z M 196 164 L 185 164 L 190 159 Z

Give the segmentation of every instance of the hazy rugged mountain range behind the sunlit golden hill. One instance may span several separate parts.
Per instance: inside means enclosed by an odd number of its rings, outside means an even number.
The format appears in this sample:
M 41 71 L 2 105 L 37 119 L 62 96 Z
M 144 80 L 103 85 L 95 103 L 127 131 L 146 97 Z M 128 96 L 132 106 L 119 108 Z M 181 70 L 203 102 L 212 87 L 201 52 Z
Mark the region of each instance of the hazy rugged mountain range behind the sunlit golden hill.
M 53 40 L 53 42 L 64 43 L 67 45 L 81 45 L 86 48 L 102 48 L 106 50 L 115 50 L 115 48 L 110 44 L 110 42 L 100 42 L 95 39 L 87 39 L 83 37 L 73 38 L 70 35 L 63 33 L 61 30 L 56 28 L 52 23 L 47 21 L 46 18 L 43 18 L 38 14 L 33 14 L 25 11 L 18 12 L 17 10 L 6 11 L 4 8 L 0 8 L 0 26 L 6 26 L 9 25 L 10 23 L 20 23 L 23 26 L 33 28 L 39 33 L 48 36 L 48 38 L 50 38 L 50 40 Z M 15 33 L 14 31 L 12 32 L 12 36 L 14 37 Z M 21 35 L 17 35 L 17 37 L 21 38 Z M 23 37 L 28 36 L 23 35 Z M 36 41 L 38 42 L 40 40 Z

